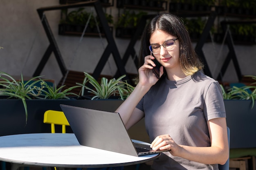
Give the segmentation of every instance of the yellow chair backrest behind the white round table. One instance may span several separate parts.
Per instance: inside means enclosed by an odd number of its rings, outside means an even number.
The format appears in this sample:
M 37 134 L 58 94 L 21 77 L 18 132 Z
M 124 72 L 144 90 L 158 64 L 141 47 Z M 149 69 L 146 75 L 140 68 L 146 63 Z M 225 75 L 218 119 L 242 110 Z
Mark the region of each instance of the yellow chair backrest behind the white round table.
M 62 125 L 62 133 L 66 133 L 66 126 L 70 126 L 64 113 L 56 110 L 45 111 L 44 123 L 51 124 L 52 133 L 55 133 L 55 125 Z

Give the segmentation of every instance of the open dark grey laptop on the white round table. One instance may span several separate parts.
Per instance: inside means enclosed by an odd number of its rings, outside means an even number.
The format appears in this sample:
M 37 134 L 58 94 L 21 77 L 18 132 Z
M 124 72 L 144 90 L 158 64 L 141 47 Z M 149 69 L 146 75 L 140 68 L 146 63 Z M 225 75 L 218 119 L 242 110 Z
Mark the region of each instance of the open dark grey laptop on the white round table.
M 136 157 L 169 151 L 152 150 L 145 142 L 132 141 L 119 113 L 60 106 L 80 145 Z

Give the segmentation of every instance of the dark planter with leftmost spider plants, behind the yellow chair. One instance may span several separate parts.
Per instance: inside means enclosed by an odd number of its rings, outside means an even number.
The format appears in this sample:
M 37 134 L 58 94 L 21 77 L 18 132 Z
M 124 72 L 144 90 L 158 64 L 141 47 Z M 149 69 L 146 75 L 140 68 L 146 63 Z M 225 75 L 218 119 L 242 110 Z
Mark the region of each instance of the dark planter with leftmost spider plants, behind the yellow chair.
M 0 136 L 50 132 L 50 126 L 43 123 L 43 114 L 46 110 L 61 111 L 60 104 L 115 111 L 123 102 L 121 99 L 115 101 L 81 99 L 71 93 L 72 89 L 81 87 L 80 85 L 61 91 L 64 86 L 60 88 L 49 86 L 45 79 L 40 78 L 40 76 L 33 77 L 25 81 L 21 76 L 21 80 L 17 81 L 11 75 L 1 72 Z

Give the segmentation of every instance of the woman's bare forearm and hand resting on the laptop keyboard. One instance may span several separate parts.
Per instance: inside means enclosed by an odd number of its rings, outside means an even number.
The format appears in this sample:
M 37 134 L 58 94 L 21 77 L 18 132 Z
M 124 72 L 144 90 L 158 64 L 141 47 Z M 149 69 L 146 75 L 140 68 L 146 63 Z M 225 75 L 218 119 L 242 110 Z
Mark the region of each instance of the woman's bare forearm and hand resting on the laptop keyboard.
M 208 122 L 211 138 L 210 147 L 177 145 L 169 135 L 161 135 L 152 142 L 153 149 L 170 148 L 173 156 L 204 164 L 225 164 L 229 157 L 226 118 L 211 119 Z

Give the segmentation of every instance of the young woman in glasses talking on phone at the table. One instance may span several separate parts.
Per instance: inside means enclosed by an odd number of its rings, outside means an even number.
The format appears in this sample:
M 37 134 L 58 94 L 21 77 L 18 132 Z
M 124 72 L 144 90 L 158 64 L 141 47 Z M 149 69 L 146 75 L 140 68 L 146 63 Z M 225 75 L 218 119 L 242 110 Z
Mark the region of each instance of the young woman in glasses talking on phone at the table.
M 126 128 L 145 117 L 154 150 L 170 149 L 153 170 L 218 170 L 229 157 L 220 85 L 200 70 L 182 21 L 172 14 L 153 18 L 142 36 L 137 86 L 116 110 Z M 152 69 L 157 60 L 160 79 Z M 150 66 L 151 64 L 151 66 Z

